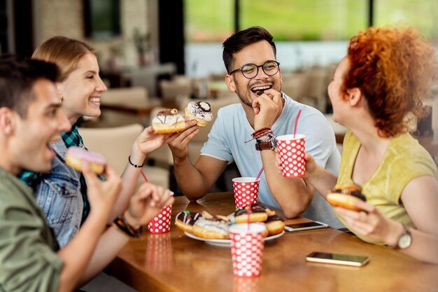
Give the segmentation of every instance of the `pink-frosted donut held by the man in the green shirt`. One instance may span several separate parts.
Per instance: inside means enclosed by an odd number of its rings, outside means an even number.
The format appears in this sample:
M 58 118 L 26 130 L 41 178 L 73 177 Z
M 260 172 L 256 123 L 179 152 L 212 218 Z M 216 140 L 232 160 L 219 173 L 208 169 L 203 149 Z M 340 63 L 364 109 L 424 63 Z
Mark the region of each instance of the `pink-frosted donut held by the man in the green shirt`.
M 105 171 L 105 158 L 99 153 L 87 151 L 84 148 L 72 146 L 67 149 L 65 155 L 65 162 L 74 169 L 82 170 L 82 162 L 88 162 L 90 168 L 96 174 L 102 174 Z

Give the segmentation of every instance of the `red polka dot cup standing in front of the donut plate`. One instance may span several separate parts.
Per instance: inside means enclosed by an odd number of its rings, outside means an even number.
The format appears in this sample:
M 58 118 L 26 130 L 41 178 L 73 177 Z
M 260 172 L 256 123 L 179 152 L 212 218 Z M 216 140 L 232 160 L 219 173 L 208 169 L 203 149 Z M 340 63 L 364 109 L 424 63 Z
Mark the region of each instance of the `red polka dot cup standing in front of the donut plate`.
M 236 277 L 258 277 L 262 271 L 264 224 L 229 226 L 233 272 Z

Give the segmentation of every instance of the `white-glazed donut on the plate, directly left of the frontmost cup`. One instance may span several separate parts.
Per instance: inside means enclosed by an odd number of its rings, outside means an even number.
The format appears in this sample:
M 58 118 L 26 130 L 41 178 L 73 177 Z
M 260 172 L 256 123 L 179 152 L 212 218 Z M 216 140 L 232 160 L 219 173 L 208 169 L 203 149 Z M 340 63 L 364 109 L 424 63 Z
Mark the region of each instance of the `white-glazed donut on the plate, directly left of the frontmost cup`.
M 193 225 L 193 234 L 207 239 L 228 239 L 229 219 L 225 216 L 213 216 L 206 211 Z

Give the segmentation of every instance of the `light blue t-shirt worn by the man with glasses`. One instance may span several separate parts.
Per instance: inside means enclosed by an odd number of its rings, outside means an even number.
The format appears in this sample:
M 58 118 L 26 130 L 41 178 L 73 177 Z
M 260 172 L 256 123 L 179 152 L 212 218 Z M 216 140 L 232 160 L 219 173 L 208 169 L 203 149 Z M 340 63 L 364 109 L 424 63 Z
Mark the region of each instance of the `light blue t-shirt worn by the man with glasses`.
M 337 175 L 341 155 L 337 150 L 330 123 L 317 109 L 295 102 L 284 93 L 283 98 L 285 99 L 283 112 L 272 126 L 274 134 L 276 136 L 293 134 L 295 118 L 301 109 L 297 134 L 306 135 L 306 153 L 310 153 L 318 165 Z M 257 176 L 263 166 L 260 151 L 255 150 L 255 140 L 245 143 L 251 139 L 253 132 L 254 129 L 246 119 L 241 104 L 225 106 L 218 111 L 218 117 L 209 133 L 209 140 L 202 147 L 201 155 L 229 163 L 236 162 L 241 176 Z M 259 201 L 280 207 L 268 188 L 264 174 L 260 176 Z M 334 228 L 343 227 L 334 215 L 330 204 L 319 193 L 315 193 L 303 216 L 314 221 L 322 221 Z

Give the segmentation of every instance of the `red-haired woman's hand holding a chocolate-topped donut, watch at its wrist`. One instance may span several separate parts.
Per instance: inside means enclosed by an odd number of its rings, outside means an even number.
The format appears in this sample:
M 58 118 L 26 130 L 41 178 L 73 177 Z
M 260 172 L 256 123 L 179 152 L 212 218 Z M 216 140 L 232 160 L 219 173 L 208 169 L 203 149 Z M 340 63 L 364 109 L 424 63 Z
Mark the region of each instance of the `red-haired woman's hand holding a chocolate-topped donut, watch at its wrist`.
M 398 236 L 402 234 L 402 224 L 391 220 L 372 204 L 361 200 L 354 200 L 353 204 L 363 211 L 342 207 L 335 209 L 355 232 L 391 246 L 396 243 Z

